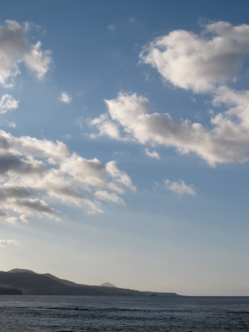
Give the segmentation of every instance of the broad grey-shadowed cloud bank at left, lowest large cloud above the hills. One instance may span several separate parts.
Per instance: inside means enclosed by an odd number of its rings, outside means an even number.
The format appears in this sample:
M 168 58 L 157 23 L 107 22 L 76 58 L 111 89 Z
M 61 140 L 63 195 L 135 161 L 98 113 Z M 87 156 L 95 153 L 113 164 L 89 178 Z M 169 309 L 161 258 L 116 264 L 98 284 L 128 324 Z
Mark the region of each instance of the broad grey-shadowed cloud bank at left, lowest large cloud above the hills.
M 0 217 L 8 222 L 28 222 L 33 214 L 60 220 L 50 206 L 56 201 L 101 213 L 98 198 L 123 204 L 118 195 L 125 189 L 135 191 L 115 161 L 88 160 L 62 142 L 17 138 L 0 130 Z

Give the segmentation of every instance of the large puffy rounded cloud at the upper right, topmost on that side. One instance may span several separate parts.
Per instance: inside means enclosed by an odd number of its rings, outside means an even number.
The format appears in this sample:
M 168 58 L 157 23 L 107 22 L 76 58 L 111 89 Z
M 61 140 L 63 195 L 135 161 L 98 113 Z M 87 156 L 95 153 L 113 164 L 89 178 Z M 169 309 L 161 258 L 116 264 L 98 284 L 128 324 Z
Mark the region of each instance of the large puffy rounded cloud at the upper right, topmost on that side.
M 147 45 L 140 59 L 174 86 L 195 92 L 213 91 L 235 79 L 249 54 L 249 25 L 208 24 L 201 34 L 175 30 Z

